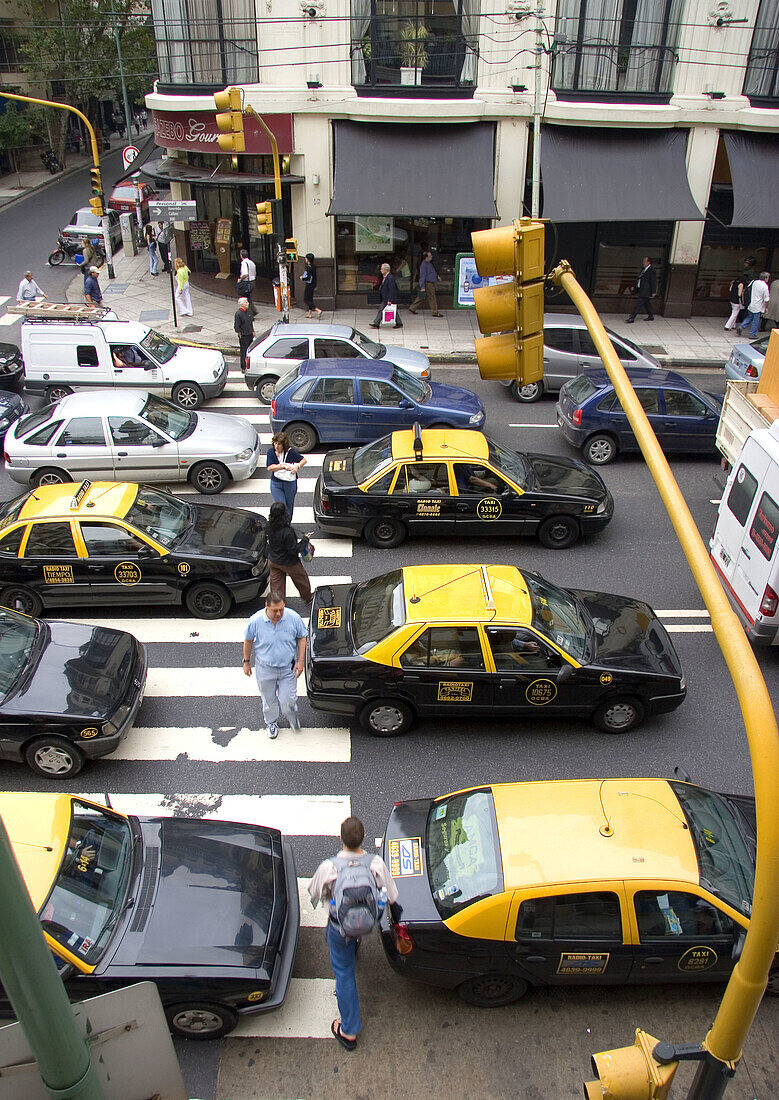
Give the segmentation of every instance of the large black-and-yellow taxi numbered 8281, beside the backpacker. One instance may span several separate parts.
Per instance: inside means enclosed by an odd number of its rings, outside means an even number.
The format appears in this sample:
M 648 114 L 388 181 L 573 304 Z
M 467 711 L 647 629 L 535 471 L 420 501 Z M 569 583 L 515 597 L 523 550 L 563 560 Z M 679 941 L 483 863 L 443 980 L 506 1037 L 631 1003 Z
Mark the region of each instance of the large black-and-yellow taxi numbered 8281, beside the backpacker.
M 542 986 L 725 981 L 749 926 L 756 843 L 754 799 L 662 779 L 398 802 L 384 948 L 399 974 L 484 1008 Z

